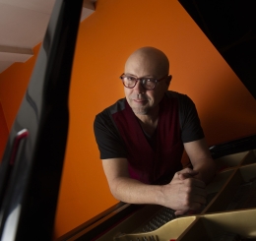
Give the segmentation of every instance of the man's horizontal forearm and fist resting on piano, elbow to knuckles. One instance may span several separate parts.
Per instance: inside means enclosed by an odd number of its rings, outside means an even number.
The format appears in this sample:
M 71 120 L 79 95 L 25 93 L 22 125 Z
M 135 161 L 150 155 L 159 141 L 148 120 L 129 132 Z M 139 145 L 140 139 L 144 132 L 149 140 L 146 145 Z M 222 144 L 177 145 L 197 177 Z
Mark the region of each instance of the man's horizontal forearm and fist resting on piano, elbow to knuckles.
M 204 182 L 195 178 L 182 180 L 179 172 L 162 186 L 143 184 L 129 177 L 118 177 L 110 186 L 116 199 L 129 204 L 153 204 L 178 211 L 199 210 L 205 204 Z

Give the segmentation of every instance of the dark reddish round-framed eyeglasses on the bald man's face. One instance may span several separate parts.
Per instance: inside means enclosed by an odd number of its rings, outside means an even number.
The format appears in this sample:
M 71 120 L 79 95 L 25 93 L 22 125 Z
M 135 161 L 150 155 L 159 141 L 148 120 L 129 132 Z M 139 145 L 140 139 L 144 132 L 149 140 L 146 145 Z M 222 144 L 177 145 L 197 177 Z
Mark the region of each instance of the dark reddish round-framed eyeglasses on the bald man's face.
M 150 77 L 136 78 L 134 76 L 129 76 L 125 74 L 122 74 L 120 76 L 120 79 L 122 80 L 123 85 L 126 88 L 133 89 L 136 86 L 137 82 L 140 82 L 140 84 L 145 90 L 154 90 L 156 88 L 157 83 L 160 81 L 163 81 L 166 78 L 167 78 L 167 75 L 160 78 L 159 80 L 156 80 L 155 78 L 150 78 Z

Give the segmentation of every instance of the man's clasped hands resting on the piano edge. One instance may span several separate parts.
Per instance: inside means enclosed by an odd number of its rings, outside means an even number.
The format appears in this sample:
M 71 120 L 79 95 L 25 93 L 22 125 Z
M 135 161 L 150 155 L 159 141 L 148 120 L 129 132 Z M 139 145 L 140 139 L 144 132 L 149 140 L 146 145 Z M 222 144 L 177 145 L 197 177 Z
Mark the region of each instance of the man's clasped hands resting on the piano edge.
M 199 172 L 190 168 L 175 173 L 169 184 L 162 186 L 165 207 L 175 210 L 176 215 L 187 211 L 200 211 L 206 205 L 205 183 Z

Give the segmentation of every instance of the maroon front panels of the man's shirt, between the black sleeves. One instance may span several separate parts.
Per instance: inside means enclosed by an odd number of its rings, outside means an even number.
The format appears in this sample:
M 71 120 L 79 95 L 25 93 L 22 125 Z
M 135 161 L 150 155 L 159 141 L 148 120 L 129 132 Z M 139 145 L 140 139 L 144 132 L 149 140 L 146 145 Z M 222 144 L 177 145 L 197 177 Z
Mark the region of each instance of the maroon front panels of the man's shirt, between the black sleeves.
M 112 117 L 126 145 L 131 178 L 148 184 L 163 184 L 166 183 L 164 180 L 170 181 L 174 173 L 182 168 L 183 143 L 176 98 L 164 96 L 160 101 L 156 150 L 150 146 L 127 101 L 125 108 L 112 114 Z

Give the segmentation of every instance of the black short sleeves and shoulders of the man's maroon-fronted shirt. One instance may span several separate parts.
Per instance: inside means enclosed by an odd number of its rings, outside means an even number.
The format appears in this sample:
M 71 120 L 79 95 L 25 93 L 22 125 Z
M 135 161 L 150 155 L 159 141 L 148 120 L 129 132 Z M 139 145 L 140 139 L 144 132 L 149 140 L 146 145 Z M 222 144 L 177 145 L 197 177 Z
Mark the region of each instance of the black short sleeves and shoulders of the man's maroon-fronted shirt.
M 181 140 L 189 143 L 204 138 L 204 132 L 193 101 L 185 94 L 166 91 L 168 98 L 177 98 L 179 107 L 179 123 Z M 119 99 L 96 115 L 94 129 L 100 159 L 127 157 L 124 142 L 112 119 L 112 114 L 125 108 L 125 98 Z

